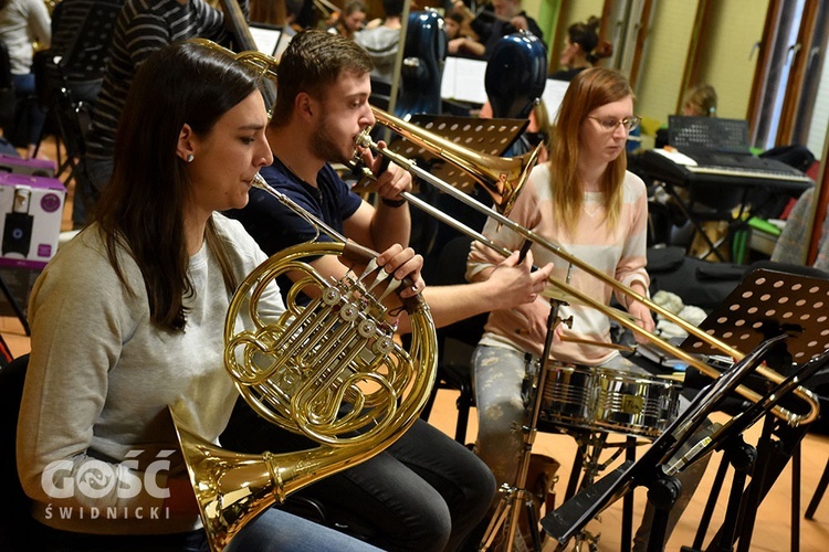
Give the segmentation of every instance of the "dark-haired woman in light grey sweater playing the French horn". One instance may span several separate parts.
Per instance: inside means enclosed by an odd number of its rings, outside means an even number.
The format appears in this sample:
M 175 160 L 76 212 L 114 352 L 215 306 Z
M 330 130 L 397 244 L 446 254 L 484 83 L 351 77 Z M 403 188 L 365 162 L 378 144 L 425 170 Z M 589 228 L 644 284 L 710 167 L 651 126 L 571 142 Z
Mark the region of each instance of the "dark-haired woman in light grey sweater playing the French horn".
M 31 295 L 18 470 L 41 551 L 208 550 L 168 406 L 216 442 L 238 392 L 223 367 L 233 291 L 266 256 L 241 208 L 273 157 L 260 76 L 190 42 L 136 73 L 95 220 Z M 153 137 L 153 139 L 147 139 Z M 399 245 L 380 264 L 413 266 Z M 410 290 L 407 290 L 410 291 Z M 263 317 L 284 305 L 263 294 Z M 376 550 L 275 508 L 232 538 L 256 551 Z M 231 550 L 229 548 L 228 550 Z

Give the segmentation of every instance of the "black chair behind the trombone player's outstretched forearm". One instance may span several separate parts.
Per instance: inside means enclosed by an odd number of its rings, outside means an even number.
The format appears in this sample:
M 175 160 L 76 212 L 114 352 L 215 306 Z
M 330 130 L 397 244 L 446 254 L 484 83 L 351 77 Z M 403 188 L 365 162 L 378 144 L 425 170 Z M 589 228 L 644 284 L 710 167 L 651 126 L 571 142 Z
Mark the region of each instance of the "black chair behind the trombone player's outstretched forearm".
M 466 256 L 472 238 L 465 235 L 450 240 L 438 255 L 437 269 L 431 285 L 453 285 L 465 283 Z M 458 396 L 458 422 L 454 438 L 462 445 L 466 440 L 470 408 L 475 404 L 472 390 L 472 353 L 483 335 L 487 314 L 481 314 L 438 328 L 438 378 L 421 417 L 429 420 L 438 390 L 455 390 Z

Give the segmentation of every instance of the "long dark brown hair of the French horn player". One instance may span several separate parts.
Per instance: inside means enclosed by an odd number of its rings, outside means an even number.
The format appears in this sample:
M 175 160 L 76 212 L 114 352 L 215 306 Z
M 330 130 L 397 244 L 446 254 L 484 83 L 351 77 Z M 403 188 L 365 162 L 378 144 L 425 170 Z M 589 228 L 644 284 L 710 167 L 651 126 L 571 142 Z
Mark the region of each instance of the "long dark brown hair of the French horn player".
M 109 262 L 130 291 L 118 263 L 126 248 L 144 276 L 150 319 L 181 330 L 183 298 L 192 294 L 188 276 L 183 211 L 191 193 L 186 163 L 176 156 L 179 132 L 188 124 L 199 136 L 258 89 L 258 77 L 224 53 L 191 42 L 175 43 L 150 55 L 136 72 L 118 125 L 114 170 L 95 209 Z M 235 276 L 212 220 L 204 240 L 222 269 L 230 293 Z

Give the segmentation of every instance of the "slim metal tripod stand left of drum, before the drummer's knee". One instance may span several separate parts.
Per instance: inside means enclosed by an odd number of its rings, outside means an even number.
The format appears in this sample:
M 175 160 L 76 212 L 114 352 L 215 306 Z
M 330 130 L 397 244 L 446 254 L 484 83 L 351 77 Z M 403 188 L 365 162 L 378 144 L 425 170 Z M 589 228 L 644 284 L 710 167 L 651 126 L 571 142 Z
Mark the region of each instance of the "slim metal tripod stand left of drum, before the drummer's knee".
M 533 493 L 529 492 L 526 487 L 527 473 L 529 471 L 529 459 L 533 452 L 533 443 L 535 443 L 535 436 L 537 434 L 538 415 L 541 413 L 542 405 L 542 391 L 547 379 L 547 368 L 549 363 L 549 352 L 553 347 L 553 338 L 555 335 L 556 327 L 564 322 L 566 325 L 573 323 L 573 318 L 562 320 L 558 317 L 558 309 L 562 305 L 566 305 L 560 299 L 550 299 L 550 311 L 547 317 L 547 336 L 544 341 L 544 352 L 542 353 L 542 361 L 538 368 L 538 376 L 535 379 L 536 383 L 532 385 L 529 391 L 531 396 L 531 413 L 527 416 L 526 423 L 522 426 L 522 433 L 524 434 L 524 444 L 521 453 L 521 461 L 518 463 L 518 473 L 515 478 L 515 485 L 510 486 L 504 484 L 499 489 L 501 499 L 492 516 L 490 524 L 486 527 L 483 540 L 481 542 L 480 550 L 489 550 L 492 545 L 495 537 L 503 530 L 505 551 L 512 552 L 515 543 L 515 531 L 518 529 L 518 519 L 521 518 L 521 509 L 524 507 L 527 513 L 527 520 L 529 523 L 529 530 L 533 538 L 533 550 L 539 551 L 542 549 L 542 538 L 538 530 L 538 522 L 533 509 Z M 531 362 L 529 355 L 527 355 L 527 362 Z

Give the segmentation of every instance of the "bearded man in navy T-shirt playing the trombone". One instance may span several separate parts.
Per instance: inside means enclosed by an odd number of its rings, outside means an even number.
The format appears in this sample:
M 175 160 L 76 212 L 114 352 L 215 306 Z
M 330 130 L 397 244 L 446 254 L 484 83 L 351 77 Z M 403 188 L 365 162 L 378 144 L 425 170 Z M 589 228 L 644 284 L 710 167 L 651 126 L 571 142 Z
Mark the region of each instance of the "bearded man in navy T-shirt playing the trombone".
M 348 162 L 357 135 L 375 123 L 368 105 L 370 70 L 371 59 L 350 40 L 314 30 L 296 34 L 279 66 L 280 92 L 267 128 L 274 162 L 261 173 L 336 231 L 382 250 L 387 243 L 409 238 L 409 206 L 399 194 L 411 189 L 410 174 L 393 164 L 379 174 L 381 200 L 375 208 L 351 192 L 329 164 Z M 380 170 L 381 159 L 370 151 L 363 151 L 363 159 L 372 170 Z M 256 189 L 243 210 L 229 214 L 269 253 L 313 240 L 316 234 L 279 200 Z M 346 270 L 336 258 L 323 257 L 313 266 L 336 277 Z M 515 254 L 487 282 L 429 287 L 424 299 L 438 325 L 482 312 L 489 306 L 508 308 L 532 300 L 543 289 L 552 267 L 531 274 L 531 266 L 517 264 Z M 524 289 L 515 291 L 514 286 Z M 405 316 L 400 331 L 409 331 Z M 244 403 L 237 408 L 231 427 L 225 436 L 235 438 L 234 449 L 273 448 L 287 438 L 285 432 L 263 427 Z M 361 535 L 369 542 L 386 550 L 412 551 L 458 550 L 484 516 L 494 492 L 489 468 L 423 421 L 416 422 L 385 453 L 300 491 L 326 509 L 357 517 L 358 526 L 370 528 Z

